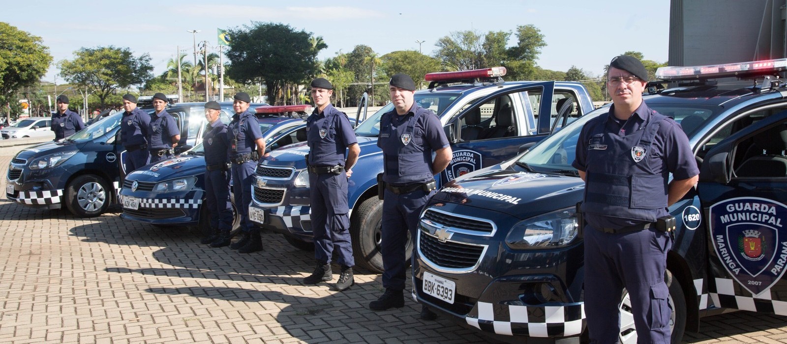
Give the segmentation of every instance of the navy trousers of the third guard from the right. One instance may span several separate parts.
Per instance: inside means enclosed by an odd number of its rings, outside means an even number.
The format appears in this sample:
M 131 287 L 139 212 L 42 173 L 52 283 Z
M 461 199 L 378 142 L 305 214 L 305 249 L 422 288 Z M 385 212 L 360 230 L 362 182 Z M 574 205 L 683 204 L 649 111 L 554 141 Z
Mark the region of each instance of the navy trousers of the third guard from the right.
M 347 174 L 309 173 L 314 258 L 331 262 L 338 253 L 338 263 L 352 267 L 353 243 L 349 237 L 349 207 L 347 206 Z

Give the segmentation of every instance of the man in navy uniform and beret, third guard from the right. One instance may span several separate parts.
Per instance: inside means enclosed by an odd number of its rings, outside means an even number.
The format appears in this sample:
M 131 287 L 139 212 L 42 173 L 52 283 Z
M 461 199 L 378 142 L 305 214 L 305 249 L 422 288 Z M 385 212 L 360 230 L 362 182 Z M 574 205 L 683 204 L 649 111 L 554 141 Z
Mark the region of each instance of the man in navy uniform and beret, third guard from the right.
M 309 192 L 312 205 L 314 257 L 317 267 L 304 284 L 333 279 L 331 258 L 334 249 L 342 265 L 336 289 L 344 291 L 355 284 L 353 245 L 349 238 L 347 178 L 358 159 L 360 148 L 353 126 L 344 112 L 331 105 L 334 86 L 327 79 L 312 81 L 312 101 L 316 108 L 306 119 L 309 142 Z M 345 148 L 349 154 L 345 159 Z

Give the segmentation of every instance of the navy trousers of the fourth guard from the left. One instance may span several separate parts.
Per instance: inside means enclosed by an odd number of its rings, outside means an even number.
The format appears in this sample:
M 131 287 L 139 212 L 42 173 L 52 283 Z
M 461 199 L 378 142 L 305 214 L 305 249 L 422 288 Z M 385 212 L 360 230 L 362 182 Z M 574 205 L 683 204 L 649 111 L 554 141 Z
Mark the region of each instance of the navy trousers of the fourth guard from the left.
M 230 174 L 225 170 L 205 171 L 205 199 L 210 216 L 210 228 L 232 229 Z

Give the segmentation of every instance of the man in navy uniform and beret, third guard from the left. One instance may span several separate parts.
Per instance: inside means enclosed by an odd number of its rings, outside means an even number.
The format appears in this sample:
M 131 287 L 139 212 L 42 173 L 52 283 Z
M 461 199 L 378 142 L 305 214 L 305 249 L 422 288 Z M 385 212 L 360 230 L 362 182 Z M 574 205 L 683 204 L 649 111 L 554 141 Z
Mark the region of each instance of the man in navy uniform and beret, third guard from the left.
M 175 119 L 167 110 L 167 96 L 164 93 L 153 95 L 153 109 L 156 111 L 150 116 L 148 126 L 148 150 L 150 163 L 171 159 L 175 156 L 174 148 L 180 141 L 180 130 Z

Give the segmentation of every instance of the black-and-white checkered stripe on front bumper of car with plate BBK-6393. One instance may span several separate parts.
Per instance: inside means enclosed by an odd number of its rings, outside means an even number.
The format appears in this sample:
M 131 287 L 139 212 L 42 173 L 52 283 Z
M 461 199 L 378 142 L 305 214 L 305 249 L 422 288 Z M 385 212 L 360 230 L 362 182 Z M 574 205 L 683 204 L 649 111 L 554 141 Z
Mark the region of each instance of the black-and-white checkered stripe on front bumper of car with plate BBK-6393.
M 568 337 L 582 334 L 585 304 L 569 306 L 513 306 L 478 302 L 478 317 L 468 315 L 467 324 L 498 335 Z M 472 313 L 471 313 L 472 314 Z

